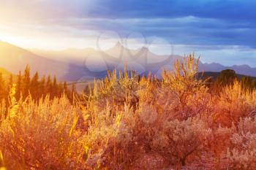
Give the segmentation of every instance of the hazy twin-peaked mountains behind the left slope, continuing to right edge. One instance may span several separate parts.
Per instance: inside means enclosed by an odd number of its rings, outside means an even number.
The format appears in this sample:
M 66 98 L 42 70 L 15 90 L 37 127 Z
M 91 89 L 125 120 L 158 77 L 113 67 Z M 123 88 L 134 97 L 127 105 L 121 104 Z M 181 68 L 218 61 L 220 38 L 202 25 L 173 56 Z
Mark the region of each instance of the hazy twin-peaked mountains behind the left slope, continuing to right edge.
M 139 73 L 148 73 L 160 75 L 162 69 L 173 69 L 173 63 L 183 57 L 180 55 L 157 55 L 151 53 L 146 47 L 136 50 L 130 50 L 121 45 L 120 42 L 109 50 L 69 49 L 63 51 L 43 51 L 33 50 L 39 55 L 49 58 L 58 58 L 59 61 L 75 64 L 83 67 L 83 74 L 92 77 L 104 77 L 104 69 L 121 68 L 126 63 L 130 69 L 135 69 Z M 256 77 L 256 68 L 247 65 L 241 66 L 223 66 L 220 63 L 199 63 L 199 72 L 221 72 L 224 69 L 233 69 L 237 74 Z M 95 71 L 95 72 L 94 72 Z

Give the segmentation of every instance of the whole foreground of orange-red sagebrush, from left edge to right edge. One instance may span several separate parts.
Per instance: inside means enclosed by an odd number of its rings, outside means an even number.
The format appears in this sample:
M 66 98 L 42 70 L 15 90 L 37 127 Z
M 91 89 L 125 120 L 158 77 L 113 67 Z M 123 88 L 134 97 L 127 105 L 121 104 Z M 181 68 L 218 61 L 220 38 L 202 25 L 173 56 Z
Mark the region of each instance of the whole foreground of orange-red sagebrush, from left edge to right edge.
M 109 72 L 83 96 L 0 106 L 0 169 L 256 169 L 256 90 L 208 86 L 193 55 L 140 77 Z M 69 95 L 70 96 L 70 95 Z

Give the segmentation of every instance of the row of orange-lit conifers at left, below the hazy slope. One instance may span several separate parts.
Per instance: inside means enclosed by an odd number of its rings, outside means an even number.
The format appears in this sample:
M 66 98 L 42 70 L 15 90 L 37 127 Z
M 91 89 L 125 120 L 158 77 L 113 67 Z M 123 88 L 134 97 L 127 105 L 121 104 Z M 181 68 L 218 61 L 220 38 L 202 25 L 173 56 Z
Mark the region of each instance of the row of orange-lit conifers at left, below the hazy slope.
M 39 98 L 47 95 L 52 99 L 65 94 L 72 101 L 73 96 L 77 93 L 75 85 L 72 85 L 72 88 L 69 89 L 67 82 L 58 82 L 56 76 L 43 75 L 39 77 L 39 73 L 36 72 L 31 77 L 30 68 L 26 66 L 23 73 L 19 72 L 18 76 L 10 74 L 9 80 L 4 80 L 3 75 L 0 73 L 0 101 L 8 100 L 10 90 L 14 84 L 15 98 L 17 100 L 30 95 L 35 101 L 38 101 Z

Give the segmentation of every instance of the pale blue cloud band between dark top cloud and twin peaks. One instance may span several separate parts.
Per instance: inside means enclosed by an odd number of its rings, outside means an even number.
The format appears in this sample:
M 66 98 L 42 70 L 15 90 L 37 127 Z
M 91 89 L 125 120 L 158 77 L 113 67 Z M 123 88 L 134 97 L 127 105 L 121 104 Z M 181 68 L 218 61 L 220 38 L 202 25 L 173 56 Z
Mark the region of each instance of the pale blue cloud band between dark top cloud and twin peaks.
M 124 38 L 140 32 L 174 44 L 246 45 L 255 47 L 256 25 L 215 18 L 66 18 L 54 21 L 63 26 L 94 31 L 118 31 Z

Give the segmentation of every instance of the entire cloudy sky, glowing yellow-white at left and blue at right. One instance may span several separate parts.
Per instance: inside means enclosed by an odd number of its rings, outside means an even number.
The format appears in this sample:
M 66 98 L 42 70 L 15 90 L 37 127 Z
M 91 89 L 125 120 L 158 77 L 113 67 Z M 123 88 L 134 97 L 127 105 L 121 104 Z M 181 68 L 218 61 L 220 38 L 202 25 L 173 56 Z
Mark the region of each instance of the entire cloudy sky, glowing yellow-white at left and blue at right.
M 0 0 L 0 40 L 44 50 L 121 42 L 256 67 L 255 8 L 254 0 Z

